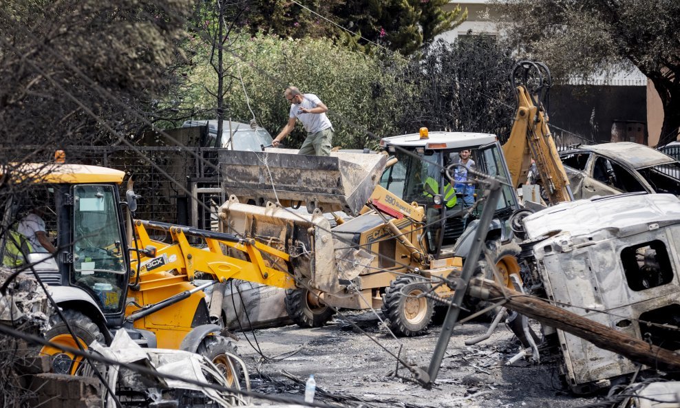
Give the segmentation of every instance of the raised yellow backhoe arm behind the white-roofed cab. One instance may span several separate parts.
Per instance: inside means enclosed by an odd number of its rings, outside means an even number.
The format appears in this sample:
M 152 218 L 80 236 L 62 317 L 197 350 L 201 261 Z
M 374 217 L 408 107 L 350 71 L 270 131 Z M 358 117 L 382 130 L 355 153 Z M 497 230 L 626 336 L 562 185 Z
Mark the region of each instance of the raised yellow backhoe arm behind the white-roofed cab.
M 533 159 L 549 204 L 571 201 L 573 195 L 569 188 L 569 179 L 562 166 L 562 160 L 557 154 L 544 106 L 544 100 L 551 86 L 550 72 L 542 63 L 520 61 L 513 70 L 513 86 L 516 85 L 518 75 L 524 80 L 524 84 L 515 87 L 517 113 L 510 137 L 503 144 L 503 154 L 508 164 L 512 184 L 519 187 L 527 182 Z M 529 92 L 529 85 L 527 85 L 529 79 L 537 80 L 535 98 Z

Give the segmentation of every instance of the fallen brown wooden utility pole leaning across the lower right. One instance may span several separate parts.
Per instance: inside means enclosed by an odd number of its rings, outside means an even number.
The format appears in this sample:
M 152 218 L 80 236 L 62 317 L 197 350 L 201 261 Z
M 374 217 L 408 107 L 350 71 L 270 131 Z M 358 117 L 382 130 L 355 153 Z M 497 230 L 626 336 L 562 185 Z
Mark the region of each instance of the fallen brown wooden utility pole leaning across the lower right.
M 603 350 L 621 354 L 636 363 L 661 369 L 680 369 L 680 354 L 676 352 L 617 332 L 606 325 L 551 305 L 537 297 L 509 288 L 500 288 L 496 282 L 489 279 L 479 277 L 472 279 L 469 293 L 473 297 L 489 301 L 506 299 L 503 306 L 509 310 L 524 314 L 553 328 L 564 330 L 590 341 Z

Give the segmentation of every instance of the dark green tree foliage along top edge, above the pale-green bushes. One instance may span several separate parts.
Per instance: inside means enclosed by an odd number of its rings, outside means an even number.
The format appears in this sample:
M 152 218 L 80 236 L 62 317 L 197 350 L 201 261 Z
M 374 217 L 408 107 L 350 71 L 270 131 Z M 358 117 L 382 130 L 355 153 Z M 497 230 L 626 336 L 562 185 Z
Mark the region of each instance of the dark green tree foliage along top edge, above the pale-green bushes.
M 410 55 L 460 25 L 467 9 L 442 10 L 447 0 L 252 0 L 246 28 L 293 39 L 322 36 L 358 50 L 375 44 Z

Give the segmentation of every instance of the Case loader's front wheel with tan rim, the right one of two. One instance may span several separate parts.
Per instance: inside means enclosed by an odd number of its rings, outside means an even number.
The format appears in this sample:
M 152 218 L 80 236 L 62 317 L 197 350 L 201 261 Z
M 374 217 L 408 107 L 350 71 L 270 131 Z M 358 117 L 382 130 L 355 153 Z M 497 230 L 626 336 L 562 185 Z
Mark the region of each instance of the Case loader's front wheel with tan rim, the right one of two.
M 432 290 L 432 286 L 416 277 L 394 279 L 383 294 L 383 315 L 390 322 L 390 330 L 397 336 L 420 336 L 427 332 L 432 321 L 434 302 L 427 297 L 416 297 Z

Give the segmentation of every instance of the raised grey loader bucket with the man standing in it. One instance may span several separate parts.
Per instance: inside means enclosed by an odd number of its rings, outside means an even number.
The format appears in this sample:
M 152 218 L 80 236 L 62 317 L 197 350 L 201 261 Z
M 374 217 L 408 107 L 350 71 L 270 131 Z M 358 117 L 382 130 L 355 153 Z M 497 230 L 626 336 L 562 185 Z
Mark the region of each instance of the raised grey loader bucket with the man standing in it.
M 380 181 L 383 154 L 332 152 L 330 156 L 299 155 L 290 149 L 264 152 L 221 150 L 222 188 L 240 202 L 304 204 L 309 213 L 359 211 Z

